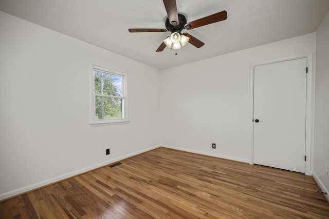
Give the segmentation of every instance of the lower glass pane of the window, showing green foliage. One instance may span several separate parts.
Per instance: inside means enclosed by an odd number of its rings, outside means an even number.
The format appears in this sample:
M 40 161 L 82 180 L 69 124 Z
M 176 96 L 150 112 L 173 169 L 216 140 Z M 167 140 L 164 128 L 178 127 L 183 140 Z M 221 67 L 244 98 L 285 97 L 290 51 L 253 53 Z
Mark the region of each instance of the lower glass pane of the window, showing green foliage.
M 112 120 L 122 118 L 122 99 L 96 96 L 96 120 Z

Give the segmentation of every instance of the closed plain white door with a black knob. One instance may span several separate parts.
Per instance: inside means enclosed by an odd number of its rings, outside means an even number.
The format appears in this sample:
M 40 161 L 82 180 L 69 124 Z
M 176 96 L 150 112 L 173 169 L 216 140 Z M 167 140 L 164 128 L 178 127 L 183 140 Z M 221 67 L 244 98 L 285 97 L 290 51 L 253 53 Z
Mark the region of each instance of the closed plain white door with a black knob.
M 305 172 L 306 58 L 254 67 L 253 163 Z

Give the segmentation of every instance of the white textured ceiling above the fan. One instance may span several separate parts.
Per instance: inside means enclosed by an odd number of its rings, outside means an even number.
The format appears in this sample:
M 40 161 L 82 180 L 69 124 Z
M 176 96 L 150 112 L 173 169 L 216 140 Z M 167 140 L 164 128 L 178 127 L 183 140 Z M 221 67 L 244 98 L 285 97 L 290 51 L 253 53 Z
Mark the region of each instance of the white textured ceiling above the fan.
M 225 21 L 184 30 L 205 45 L 155 52 L 170 32 L 129 33 L 128 28 L 164 28 L 161 0 L 0 0 L 0 10 L 32 23 L 165 69 L 280 41 L 317 30 L 329 0 L 176 0 L 187 21 L 226 10 Z

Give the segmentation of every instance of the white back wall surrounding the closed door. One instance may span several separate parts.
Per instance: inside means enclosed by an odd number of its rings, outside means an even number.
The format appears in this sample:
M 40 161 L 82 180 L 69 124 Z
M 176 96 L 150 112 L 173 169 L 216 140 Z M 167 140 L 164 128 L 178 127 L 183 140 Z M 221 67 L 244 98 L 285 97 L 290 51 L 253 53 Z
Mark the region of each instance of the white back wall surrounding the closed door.
M 162 70 L 161 144 L 249 162 L 250 66 L 315 51 L 310 33 Z

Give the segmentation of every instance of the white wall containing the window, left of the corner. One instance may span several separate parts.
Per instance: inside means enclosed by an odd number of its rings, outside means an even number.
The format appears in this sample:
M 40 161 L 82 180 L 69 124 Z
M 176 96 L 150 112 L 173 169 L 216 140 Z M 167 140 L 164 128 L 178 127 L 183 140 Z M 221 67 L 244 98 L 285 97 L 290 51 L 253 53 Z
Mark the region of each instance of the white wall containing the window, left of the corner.
M 3 12 L 0 30 L 0 200 L 159 145 L 159 70 Z M 128 73 L 130 124 L 89 126 L 90 63 Z

